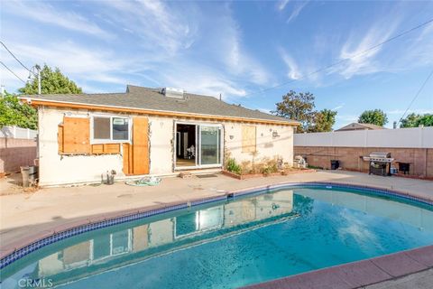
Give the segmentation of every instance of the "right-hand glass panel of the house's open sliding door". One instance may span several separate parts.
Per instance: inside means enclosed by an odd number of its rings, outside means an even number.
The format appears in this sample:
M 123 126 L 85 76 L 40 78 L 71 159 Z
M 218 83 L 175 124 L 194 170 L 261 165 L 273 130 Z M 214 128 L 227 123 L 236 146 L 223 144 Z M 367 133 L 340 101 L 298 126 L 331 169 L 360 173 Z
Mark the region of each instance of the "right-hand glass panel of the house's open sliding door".
M 200 164 L 218 164 L 221 150 L 221 127 L 199 126 Z

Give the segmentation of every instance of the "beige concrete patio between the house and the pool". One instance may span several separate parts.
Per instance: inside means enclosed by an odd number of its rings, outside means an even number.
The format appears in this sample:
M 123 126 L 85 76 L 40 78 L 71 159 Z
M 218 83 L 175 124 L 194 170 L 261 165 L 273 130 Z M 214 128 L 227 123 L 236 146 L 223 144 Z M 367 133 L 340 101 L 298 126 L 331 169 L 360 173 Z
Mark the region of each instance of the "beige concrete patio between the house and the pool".
M 226 191 L 278 182 L 344 182 L 370 185 L 410 192 L 412 195 L 433 200 L 433 182 L 430 181 L 343 171 L 297 173 L 243 181 L 222 174 L 205 178 L 197 176 L 189 179 L 166 178 L 157 187 L 133 187 L 124 183 L 115 183 L 112 186 L 48 188 L 33 193 L 0 196 L 2 255 L 7 254 L 14 247 L 28 244 L 34 238 L 49 236 L 53 231 L 78 226 L 83 222 L 112 218 L 125 211 L 207 198 L 225 194 Z M 10 190 L 10 188 L 11 186 L 7 185 L 5 180 L 0 181 L 0 190 Z M 423 282 L 429 278 L 428 281 L 433 284 L 431 270 L 427 272 L 429 273 L 420 275 L 420 278 Z M 406 284 L 411 284 L 410 288 L 417 288 L 419 278 L 405 279 L 400 283 L 395 282 L 387 281 L 386 284 L 383 284 L 383 288 L 406 288 Z

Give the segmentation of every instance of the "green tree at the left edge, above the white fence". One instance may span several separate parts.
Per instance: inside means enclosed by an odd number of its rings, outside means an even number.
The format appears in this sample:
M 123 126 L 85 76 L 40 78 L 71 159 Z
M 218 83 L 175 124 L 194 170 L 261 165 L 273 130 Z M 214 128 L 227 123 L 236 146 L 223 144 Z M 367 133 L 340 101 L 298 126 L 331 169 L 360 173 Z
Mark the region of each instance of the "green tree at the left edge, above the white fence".
M 0 98 L 0 127 L 3 126 L 37 129 L 38 114 L 36 109 L 6 92 L 5 97 Z

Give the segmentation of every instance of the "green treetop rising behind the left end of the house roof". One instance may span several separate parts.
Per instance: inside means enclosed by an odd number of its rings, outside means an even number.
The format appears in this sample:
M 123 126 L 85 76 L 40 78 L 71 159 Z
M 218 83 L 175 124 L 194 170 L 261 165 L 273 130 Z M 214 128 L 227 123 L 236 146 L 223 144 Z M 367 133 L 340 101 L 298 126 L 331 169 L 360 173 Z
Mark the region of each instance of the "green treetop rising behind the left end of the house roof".
M 38 79 L 33 78 L 25 87 L 18 89 L 21 94 L 38 94 Z M 58 68 L 51 70 L 48 65 L 41 69 L 41 93 L 42 94 L 74 94 L 83 93 L 77 84 L 64 76 Z

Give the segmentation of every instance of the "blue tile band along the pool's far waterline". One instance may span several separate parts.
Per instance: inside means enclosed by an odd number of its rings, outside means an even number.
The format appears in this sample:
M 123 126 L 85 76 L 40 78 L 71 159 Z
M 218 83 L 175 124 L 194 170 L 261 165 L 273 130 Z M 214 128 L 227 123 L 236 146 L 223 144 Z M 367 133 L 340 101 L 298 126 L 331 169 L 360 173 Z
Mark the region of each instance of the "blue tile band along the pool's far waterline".
M 204 205 L 207 203 L 217 202 L 217 201 L 223 201 L 223 200 L 236 200 L 236 198 L 244 197 L 244 196 L 250 196 L 250 195 L 258 195 L 263 194 L 267 192 L 272 191 L 280 191 L 280 190 L 287 190 L 287 189 L 302 189 L 302 188 L 320 188 L 320 189 L 349 189 L 349 190 L 355 190 L 360 191 L 361 193 L 364 193 L 365 195 L 373 195 L 373 196 L 382 196 L 382 197 L 388 197 L 392 200 L 411 200 L 415 203 L 419 203 L 422 205 L 428 205 L 433 207 L 433 200 L 428 200 L 421 198 L 419 196 L 411 195 L 410 193 L 405 193 L 401 191 L 395 191 L 395 190 L 389 190 L 389 189 L 383 189 L 378 187 L 372 187 L 372 186 L 363 186 L 363 185 L 354 185 L 354 184 L 346 184 L 346 183 L 339 183 L 339 182 L 283 182 L 283 183 L 277 183 L 262 187 L 255 187 L 240 191 L 226 191 L 224 195 L 216 196 L 216 197 L 210 197 L 206 199 L 201 200 L 192 200 L 187 201 L 184 203 L 177 203 L 175 205 L 161 207 L 157 209 L 152 210 L 145 210 L 145 211 L 139 211 L 135 213 L 130 213 L 127 215 L 122 215 L 119 217 L 115 217 L 112 219 L 105 219 L 102 221 L 97 221 L 94 223 L 88 223 L 86 225 L 81 225 L 74 228 L 68 228 L 60 232 L 55 232 L 51 236 L 46 238 L 38 239 L 31 244 L 21 247 L 18 249 L 15 249 L 14 252 L 12 252 L 9 255 L 6 255 L 0 260 L 0 269 L 5 268 L 5 266 L 9 266 L 15 261 L 21 259 L 23 256 L 27 256 L 28 254 L 40 249 L 41 247 L 45 247 L 47 245 L 53 244 L 55 242 L 58 242 L 60 240 L 70 238 L 73 236 L 77 236 L 79 234 L 83 234 L 92 230 L 96 230 L 98 228 L 106 228 L 111 227 L 119 224 L 123 224 L 125 222 L 130 222 L 134 220 L 139 219 L 145 219 L 152 216 L 161 215 L 163 213 L 167 213 L 174 210 L 182 210 L 187 209 L 190 207 L 195 207 L 199 205 Z

